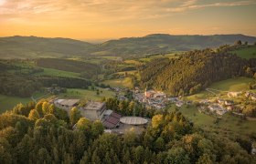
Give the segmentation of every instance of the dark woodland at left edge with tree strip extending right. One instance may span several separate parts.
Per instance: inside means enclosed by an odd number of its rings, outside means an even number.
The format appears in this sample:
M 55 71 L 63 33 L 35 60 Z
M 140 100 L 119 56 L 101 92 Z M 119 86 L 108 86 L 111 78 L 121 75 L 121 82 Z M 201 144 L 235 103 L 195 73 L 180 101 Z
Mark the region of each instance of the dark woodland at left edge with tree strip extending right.
M 33 60 L 0 60 L 0 94 L 31 97 L 35 91 L 53 84 L 68 88 L 91 86 L 91 80 L 80 77 L 37 76 L 35 74 L 43 72 L 44 69 L 31 63 Z

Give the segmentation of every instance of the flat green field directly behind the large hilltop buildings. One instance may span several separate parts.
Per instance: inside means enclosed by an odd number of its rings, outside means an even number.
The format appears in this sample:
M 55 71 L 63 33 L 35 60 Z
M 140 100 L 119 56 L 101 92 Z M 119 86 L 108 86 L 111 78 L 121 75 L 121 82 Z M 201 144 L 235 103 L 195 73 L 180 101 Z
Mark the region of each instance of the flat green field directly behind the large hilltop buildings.
M 69 88 L 67 93 L 59 94 L 57 97 L 60 98 L 79 98 L 99 101 L 102 97 L 114 97 L 114 92 L 106 90 L 104 88 L 100 89 L 100 95 L 96 94 L 96 91 L 89 89 L 79 89 L 79 88 Z M 102 91 L 102 92 L 101 92 Z

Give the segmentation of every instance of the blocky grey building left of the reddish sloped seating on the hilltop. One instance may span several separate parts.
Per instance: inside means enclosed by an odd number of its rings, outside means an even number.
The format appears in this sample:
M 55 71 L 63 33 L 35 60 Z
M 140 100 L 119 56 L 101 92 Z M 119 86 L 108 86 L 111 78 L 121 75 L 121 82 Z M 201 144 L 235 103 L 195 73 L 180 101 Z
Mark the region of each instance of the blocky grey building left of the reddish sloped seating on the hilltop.
M 80 113 L 83 117 L 88 118 L 92 121 L 101 120 L 106 110 L 105 102 L 93 102 L 87 103 L 85 108 L 80 108 Z

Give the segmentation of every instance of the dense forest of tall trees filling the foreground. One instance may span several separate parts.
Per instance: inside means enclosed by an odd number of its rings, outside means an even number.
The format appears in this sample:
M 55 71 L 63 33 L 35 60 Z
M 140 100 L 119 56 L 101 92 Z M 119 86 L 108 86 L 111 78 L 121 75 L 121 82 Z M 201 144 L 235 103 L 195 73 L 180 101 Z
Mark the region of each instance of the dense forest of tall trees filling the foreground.
M 118 108 L 114 100 L 107 105 Z M 116 106 L 116 107 L 114 107 Z M 72 128 L 76 124 L 76 128 Z M 255 162 L 251 140 L 195 128 L 179 112 L 158 110 L 137 135 L 103 133 L 100 121 L 81 118 L 48 100 L 18 104 L 0 115 L 1 163 L 243 163 Z M 253 137 L 253 136 L 252 136 Z M 255 138 L 255 136 L 254 136 Z

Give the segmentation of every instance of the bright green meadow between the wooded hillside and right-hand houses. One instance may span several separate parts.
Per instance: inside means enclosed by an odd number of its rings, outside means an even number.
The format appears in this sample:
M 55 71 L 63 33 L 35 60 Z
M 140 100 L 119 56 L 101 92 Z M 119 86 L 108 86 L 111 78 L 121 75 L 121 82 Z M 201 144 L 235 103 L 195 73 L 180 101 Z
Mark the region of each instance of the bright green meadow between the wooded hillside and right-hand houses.
M 249 77 L 238 77 L 238 78 L 229 78 L 227 80 L 219 81 L 213 83 L 209 88 L 214 88 L 222 91 L 246 91 L 249 88 L 249 83 L 253 81 L 253 78 Z M 225 94 L 225 92 L 223 92 Z M 187 97 L 189 100 L 197 100 L 207 97 L 213 97 L 211 93 L 204 90 L 195 95 Z

